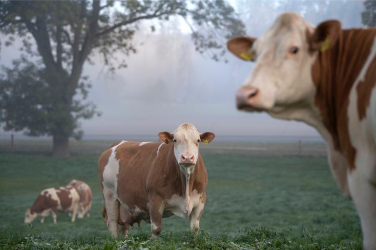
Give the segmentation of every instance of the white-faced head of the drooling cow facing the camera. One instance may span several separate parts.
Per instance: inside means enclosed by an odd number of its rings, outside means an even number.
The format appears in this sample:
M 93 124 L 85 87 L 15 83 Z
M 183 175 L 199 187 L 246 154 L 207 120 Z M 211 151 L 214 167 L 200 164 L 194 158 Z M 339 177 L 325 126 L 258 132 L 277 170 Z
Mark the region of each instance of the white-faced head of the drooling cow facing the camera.
M 193 171 L 193 167 L 198 159 L 199 143 L 205 144 L 215 137 L 213 133 L 201 134 L 192 124 L 181 124 L 172 134 L 161 132 L 159 138 L 165 143 L 174 144 L 174 154 L 180 167 L 187 168 L 188 172 Z

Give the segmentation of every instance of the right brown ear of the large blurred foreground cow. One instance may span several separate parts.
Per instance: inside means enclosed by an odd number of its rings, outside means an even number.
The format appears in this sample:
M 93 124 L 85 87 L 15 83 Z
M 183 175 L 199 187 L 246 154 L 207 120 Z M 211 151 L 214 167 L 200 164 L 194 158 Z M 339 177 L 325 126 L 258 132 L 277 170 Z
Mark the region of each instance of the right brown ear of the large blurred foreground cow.
M 341 23 L 338 20 L 328 20 L 317 25 L 310 37 L 310 49 L 321 52 L 333 47 L 341 33 Z

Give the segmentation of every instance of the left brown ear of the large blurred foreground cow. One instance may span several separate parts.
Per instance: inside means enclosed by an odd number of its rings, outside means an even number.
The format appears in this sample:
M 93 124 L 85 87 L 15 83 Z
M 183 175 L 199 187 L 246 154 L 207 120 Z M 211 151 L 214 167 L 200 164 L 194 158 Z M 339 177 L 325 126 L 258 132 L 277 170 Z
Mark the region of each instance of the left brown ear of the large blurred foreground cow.
M 251 51 L 252 44 L 255 41 L 255 38 L 250 37 L 236 37 L 231 38 L 227 42 L 227 48 L 232 54 L 246 61 L 253 61 L 254 54 Z

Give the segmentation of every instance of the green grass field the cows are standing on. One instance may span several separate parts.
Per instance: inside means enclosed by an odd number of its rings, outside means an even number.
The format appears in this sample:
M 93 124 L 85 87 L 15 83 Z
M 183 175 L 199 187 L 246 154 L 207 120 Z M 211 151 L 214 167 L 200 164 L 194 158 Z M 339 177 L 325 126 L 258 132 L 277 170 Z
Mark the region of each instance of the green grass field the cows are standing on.
M 203 151 L 204 152 L 204 151 Z M 43 154 L 0 153 L 1 249 L 361 249 L 359 221 L 350 200 L 337 188 L 325 156 L 247 155 L 204 152 L 209 175 L 207 205 L 198 235 L 189 221 L 163 220 L 150 240 L 150 225 L 127 238 L 109 235 L 101 216 L 98 154 L 68 159 Z M 58 213 L 24 225 L 38 193 L 87 182 L 94 193 L 90 218 L 71 223 Z

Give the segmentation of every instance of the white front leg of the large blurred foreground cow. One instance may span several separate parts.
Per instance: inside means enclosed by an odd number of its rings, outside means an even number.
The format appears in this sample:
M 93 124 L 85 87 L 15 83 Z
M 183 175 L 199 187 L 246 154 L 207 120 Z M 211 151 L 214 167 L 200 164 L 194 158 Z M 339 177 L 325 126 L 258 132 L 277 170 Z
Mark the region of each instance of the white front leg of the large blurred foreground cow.
M 368 176 L 358 166 L 348 174 L 351 196 L 363 232 L 363 248 L 376 250 L 376 183 Z

